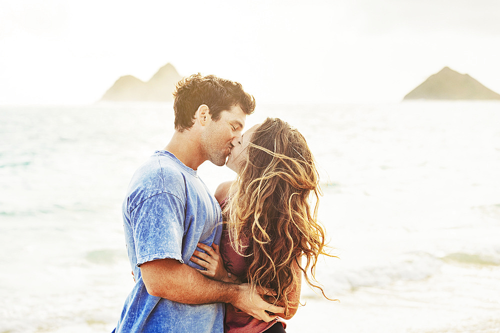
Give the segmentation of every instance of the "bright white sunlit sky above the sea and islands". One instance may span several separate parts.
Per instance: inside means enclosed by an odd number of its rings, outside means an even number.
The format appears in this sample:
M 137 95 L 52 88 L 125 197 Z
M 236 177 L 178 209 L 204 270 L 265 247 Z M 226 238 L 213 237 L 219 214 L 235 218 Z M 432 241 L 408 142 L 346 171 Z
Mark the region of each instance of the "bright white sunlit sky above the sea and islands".
M 500 93 L 498 0 L 0 0 L 0 104 L 93 103 L 123 75 L 258 102 L 396 102 L 444 66 Z

